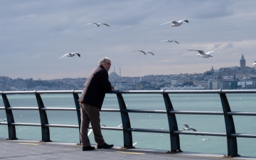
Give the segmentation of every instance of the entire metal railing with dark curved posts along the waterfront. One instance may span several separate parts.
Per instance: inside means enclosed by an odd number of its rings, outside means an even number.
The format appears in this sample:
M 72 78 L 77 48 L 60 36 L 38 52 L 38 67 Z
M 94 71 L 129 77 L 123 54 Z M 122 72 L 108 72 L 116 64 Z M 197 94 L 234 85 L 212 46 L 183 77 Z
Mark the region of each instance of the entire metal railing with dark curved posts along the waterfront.
M 4 107 L 0 107 L 0 110 L 5 110 L 7 122 L 0 122 L 8 126 L 9 139 L 17 139 L 16 137 L 16 126 L 36 126 L 41 127 L 42 139 L 41 142 L 50 141 L 50 129 L 49 127 L 66 127 L 66 128 L 78 128 L 80 131 L 80 105 L 78 103 L 78 94 L 82 90 L 58 90 L 58 91 L 2 91 L 0 92 L 4 101 Z M 226 94 L 236 93 L 256 93 L 256 90 L 129 90 L 129 91 L 111 91 L 109 93 L 116 94 L 119 103 L 119 109 L 102 109 L 102 112 L 120 112 L 122 118 L 122 126 L 119 127 L 102 127 L 107 130 L 119 130 L 123 131 L 124 148 L 132 148 L 132 132 L 155 132 L 170 134 L 171 153 L 180 152 L 180 134 L 191 134 L 191 135 L 207 135 L 215 137 L 226 137 L 228 146 L 228 156 L 235 157 L 240 156 L 238 154 L 238 143 L 237 137 L 249 137 L 256 138 L 256 134 L 238 134 L 235 132 L 235 123 L 233 121 L 233 115 L 243 116 L 255 116 L 256 112 L 231 112 L 230 105 Z M 223 112 L 202 112 L 202 111 L 177 111 L 171 103 L 169 94 L 218 94 L 220 95 L 220 101 L 222 104 Z M 36 95 L 36 101 L 38 107 L 11 107 L 9 100 L 6 95 L 9 94 L 33 94 Z M 72 94 L 75 102 L 75 108 L 60 108 L 60 107 L 44 107 L 41 94 Z M 166 110 L 128 110 L 125 105 L 122 94 L 161 94 L 164 97 L 164 104 Z M 14 114 L 12 110 L 38 110 L 40 114 L 41 124 L 32 123 L 16 123 L 14 122 Z M 47 110 L 68 110 L 76 111 L 78 116 L 78 125 L 65 125 L 65 124 L 48 124 L 48 117 L 46 114 Z M 167 114 L 169 129 L 139 129 L 132 128 L 129 112 L 138 113 L 158 113 Z M 176 120 L 176 114 L 212 114 L 212 115 L 223 115 L 225 119 L 225 133 L 213 133 L 213 132 L 187 132 L 179 131 Z

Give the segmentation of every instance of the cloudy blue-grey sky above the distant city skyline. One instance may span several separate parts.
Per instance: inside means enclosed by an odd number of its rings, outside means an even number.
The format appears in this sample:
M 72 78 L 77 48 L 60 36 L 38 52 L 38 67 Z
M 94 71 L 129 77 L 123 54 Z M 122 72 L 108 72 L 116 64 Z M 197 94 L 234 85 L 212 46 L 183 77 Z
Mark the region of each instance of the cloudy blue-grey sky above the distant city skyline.
M 86 78 L 103 57 L 112 60 L 109 73 L 121 68 L 122 77 L 240 66 L 242 54 L 253 67 L 255 6 L 254 0 L 2 0 L 0 76 Z M 160 25 L 182 19 L 189 22 Z M 166 39 L 179 44 L 159 42 Z M 191 50 L 219 52 L 201 58 Z M 65 53 L 81 56 L 59 59 Z

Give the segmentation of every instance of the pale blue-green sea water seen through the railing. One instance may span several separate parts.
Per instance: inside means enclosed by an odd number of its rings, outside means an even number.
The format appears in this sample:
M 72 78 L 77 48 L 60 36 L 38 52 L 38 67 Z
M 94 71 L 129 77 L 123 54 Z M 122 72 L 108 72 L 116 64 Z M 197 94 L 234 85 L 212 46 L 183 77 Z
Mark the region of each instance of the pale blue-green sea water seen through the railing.
M 35 95 L 7 95 L 11 107 L 37 107 Z M 43 94 L 45 107 L 74 107 L 73 95 Z M 127 109 L 166 110 L 161 94 L 123 94 Z M 181 111 L 217 111 L 221 112 L 221 102 L 218 94 L 169 94 L 174 110 Z M 230 107 L 235 112 L 256 112 L 256 94 L 227 94 Z M 0 107 L 4 107 L 0 97 Z M 119 109 L 117 96 L 107 94 L 103 103 L 104 109 Z M 38 123 L 40 117 L 37 110 L 13 110 L 14 121 L 23 123 Z M 78 125 L 75 111 L 47 111 L 49 124 Z M 107 127 L 117 127 L 122 124 L 119 112 L 100 112 L 101 124 Z M 6 118 L 4 110 L 0 110 L 0 119 Z M 169 129 L 166 114 L 129 113 L 132 128 Z M 176 114 L 178 129 L 183 130 L 183 124 L 195 128 L 198 132 L 225 133 L 223 115 L 191 115 Z M 233 116 L 237 133 L 256 134 L 254 116 Z M 1 121 L 4 122 L 4 121 Z M 105 141 L 115 146 L 123 146 L 122 131 L 102 130 Z M 18 139 L 41 140 L 41 127 L 16 126 Z M 0 137 L 8 138 L 6 125 L 0 125 Z M 93 134 L 90 134 L 91 144 L 96 144 Z M 169 134 L 132 132 L 133 143 L 137 148 L 171 149 Z M 210 141 L 203 141 L 203 138 Z M 79 143 L 79 131 L 73 128 L 50 127 L 50 139 L 53 142 Z M 237 138 L 238 154 L 256 156 L 256 139 Z M 225 137 L 180 135 L 181 150 L 201 153 L 227 154 Z

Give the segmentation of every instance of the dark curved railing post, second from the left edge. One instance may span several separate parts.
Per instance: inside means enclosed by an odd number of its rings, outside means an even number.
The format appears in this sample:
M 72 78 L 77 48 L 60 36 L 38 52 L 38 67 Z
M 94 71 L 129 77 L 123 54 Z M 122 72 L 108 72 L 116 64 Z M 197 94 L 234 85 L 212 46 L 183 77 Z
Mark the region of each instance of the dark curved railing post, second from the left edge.
M 40 114 L 40 120 L 41 120 L 41 132 L 42 132 L 42 140 L 41 142 L 51 142 L 50 140 L 50 129 L 49 127 L 46 127 L 45 124 L 48 124 L 48 118 L 45 110 L 41 110 L 43 105 L 43 100 L 41 98 L 41 95 L 36 93 L 36 101 L 38 103 L 38 110 Z

